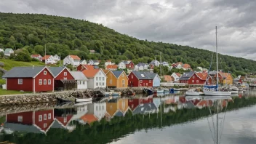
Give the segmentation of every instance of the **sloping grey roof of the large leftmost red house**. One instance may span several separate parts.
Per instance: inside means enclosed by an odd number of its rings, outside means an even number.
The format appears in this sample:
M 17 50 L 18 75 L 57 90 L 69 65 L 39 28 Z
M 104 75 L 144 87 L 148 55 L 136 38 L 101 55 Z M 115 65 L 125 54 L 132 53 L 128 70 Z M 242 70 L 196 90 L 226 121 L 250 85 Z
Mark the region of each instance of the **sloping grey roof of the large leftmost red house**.
M 2 76 L 3 78 L 33 78 L 40 71 L 42 71 L 44 66 L 34 66 L 34 67 L 15 67 Z

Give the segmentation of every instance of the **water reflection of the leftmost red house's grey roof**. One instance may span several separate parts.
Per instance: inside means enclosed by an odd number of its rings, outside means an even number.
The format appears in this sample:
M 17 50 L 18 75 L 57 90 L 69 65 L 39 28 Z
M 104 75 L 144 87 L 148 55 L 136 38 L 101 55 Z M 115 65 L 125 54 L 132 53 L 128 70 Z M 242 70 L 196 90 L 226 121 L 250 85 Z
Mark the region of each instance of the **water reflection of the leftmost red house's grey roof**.
M 33 133 L 41 133 L 44 134 L 44 131 L 41 131 L 37 127 L 33 125 L 25 125 L 25 124 L 14 124 L 14 123 L 4 123 L 4 128 L 12 129 L 17 132 L 33 132 Z

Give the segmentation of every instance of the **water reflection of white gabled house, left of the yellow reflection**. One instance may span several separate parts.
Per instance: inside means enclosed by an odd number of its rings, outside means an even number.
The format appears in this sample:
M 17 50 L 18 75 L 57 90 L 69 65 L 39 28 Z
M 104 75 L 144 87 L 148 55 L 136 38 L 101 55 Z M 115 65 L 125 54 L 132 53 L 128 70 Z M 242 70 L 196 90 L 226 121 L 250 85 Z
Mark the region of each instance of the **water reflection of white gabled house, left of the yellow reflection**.
M 88 104 L 88 113 L 94 114 L 97 117 L 97 120 L 103 119 L 106 113 L 107 103 L 90 103 Z

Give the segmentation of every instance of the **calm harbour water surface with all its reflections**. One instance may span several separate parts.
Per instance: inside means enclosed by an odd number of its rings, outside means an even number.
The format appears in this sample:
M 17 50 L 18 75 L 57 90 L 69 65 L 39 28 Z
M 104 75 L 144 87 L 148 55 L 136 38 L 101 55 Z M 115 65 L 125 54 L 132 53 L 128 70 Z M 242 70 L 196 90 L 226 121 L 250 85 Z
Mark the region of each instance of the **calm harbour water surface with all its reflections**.
M 256 143 L 256 91 L 232 97 L 113 97 L 0 107 L 6 143 Z

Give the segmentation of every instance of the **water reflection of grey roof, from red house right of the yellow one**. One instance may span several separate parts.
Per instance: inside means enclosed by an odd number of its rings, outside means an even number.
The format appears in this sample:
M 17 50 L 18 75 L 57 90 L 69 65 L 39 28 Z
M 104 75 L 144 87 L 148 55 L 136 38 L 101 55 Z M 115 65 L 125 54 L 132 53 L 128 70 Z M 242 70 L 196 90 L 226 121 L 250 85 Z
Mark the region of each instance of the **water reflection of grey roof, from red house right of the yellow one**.
M 153 111 L 156 111 L 156 105 L 153 103 L 144 103 L 140 104 L 135 108 L 135 110 L 132 112 L 133 114 L 139 114 L 139 113 L 152 113 Z

